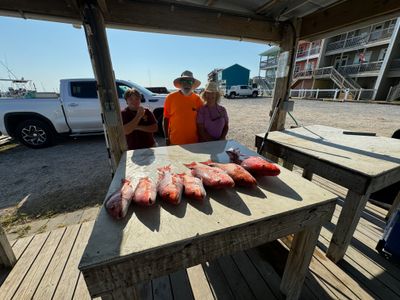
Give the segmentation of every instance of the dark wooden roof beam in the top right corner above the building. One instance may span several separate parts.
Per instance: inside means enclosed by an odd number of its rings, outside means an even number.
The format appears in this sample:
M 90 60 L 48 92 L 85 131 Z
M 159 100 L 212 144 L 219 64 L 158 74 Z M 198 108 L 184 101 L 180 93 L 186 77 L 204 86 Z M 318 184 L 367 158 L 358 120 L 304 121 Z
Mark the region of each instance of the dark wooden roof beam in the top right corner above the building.
M 399 0 L 351 0 L 332 5 L 302 18 L 300 39 L 334 35 L 350 26 L 400 16 Z

